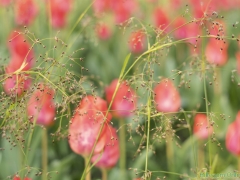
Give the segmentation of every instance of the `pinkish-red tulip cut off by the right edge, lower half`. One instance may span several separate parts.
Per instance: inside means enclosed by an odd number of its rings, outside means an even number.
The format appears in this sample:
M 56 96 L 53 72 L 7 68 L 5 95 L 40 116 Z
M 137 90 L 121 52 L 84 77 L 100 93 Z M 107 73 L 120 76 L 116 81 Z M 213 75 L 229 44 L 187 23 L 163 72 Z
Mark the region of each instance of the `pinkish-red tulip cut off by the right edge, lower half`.
M 228 151 L 239 156 L 240 155 L 240 111 L 238 111 L 236 120 L 232 122 L 227 129 L 226 147 Z

